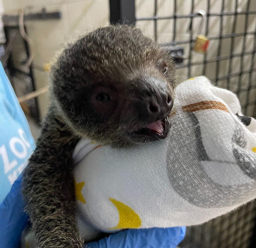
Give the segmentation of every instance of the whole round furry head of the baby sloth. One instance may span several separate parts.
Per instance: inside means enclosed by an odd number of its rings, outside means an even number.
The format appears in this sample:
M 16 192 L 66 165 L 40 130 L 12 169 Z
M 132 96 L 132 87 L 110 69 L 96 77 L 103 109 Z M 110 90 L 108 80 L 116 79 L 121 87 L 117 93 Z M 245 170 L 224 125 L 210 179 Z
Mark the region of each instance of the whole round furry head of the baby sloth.
M 129 26 L 96 29 L 52 67 L 53 94 L 80 136 L 124 146 L 164 139 L 176 77 L 172 59 Z

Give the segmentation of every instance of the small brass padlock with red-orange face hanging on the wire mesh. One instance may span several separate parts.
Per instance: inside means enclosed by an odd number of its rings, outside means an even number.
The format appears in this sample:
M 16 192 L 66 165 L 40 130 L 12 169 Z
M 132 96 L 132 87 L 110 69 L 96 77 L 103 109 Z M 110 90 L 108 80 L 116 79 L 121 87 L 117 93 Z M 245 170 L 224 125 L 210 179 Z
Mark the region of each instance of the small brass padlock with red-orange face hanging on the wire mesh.
M 197 32 L 198 35 L 197 35 L 193 50 L 196 52 L 205 53 L 207 50 L 207 47 L 209 45 L 209 39 L 206 36 L 201 35 L 200 33 L 202 33 L 202 27 L 203 27 L 203 23 L 204 23 L 204 20 L 206 17 L 206 12 L 204 10 L 200 10 L 197 12 L 197 15 L 202 16 L 202 21 L 198 28 L 198 32 Z

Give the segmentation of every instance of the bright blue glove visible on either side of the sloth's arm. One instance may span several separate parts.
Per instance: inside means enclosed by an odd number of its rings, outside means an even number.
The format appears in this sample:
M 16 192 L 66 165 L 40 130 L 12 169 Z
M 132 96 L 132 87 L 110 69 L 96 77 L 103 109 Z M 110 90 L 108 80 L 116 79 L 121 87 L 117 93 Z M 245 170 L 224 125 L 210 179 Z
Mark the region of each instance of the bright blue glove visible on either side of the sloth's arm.
M 22 175 L 12 185 L 10 193 L 0 204 L 1 248 L 18 248 L 21 233 L 27 225 L 21 193 Z M 128 229 L 113 233 L 98 242 L 86 244 L 90 248 L 175 248 L 185 236 L 185 227 Z

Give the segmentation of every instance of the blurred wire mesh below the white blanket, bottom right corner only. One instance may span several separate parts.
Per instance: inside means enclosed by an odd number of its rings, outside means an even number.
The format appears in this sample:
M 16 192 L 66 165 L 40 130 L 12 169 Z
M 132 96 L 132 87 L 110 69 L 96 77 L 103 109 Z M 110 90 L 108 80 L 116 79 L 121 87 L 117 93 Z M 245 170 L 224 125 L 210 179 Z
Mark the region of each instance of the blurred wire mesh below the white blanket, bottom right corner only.
M 249 203 L 203 225 L 187 227 L 179 248 L 249 248 L 254 243 L 256 204 Z

